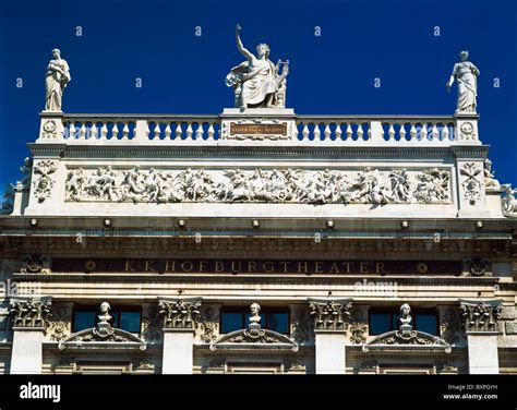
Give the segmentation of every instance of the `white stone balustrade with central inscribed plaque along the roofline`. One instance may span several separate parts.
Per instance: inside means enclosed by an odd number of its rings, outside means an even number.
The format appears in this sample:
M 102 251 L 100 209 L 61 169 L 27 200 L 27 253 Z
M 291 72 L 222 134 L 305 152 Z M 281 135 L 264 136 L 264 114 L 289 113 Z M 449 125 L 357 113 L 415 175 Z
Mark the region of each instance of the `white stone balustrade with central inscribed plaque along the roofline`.
M 273 120 L 272 120 L 273 119 Z M 272 122 L 273 121 L 273 122 Z M 390 145 L 423 144 L 447 146 L 457 143 L 481 144 L 478 117 L 472 116 L 225 116 L 180 114 L 63 114 L 41 113 L 38 143 L 67 144 L 224 144 L 236 140 L 229 130 L 236 124 L 249 128 L 251 135 L 242 140 L 278 140 L 286 145 Z M 258 125 L 256 125 L 258 124 Z M 275 137 L 274 129 L 285 126 Z M 261 128 L 262 126 L 262 128 Z M 277 128 L 276 130 L 278 130 Z M 242 128 L 241 128 L 242 130 Z M 258 131 L 256 131 L 258 130 Z M 265 130 L 265 131 L 261 131 Z M 248 132 L 248 131 L 247 131 Z M 264 135 L 253 133 L 264 132 Z

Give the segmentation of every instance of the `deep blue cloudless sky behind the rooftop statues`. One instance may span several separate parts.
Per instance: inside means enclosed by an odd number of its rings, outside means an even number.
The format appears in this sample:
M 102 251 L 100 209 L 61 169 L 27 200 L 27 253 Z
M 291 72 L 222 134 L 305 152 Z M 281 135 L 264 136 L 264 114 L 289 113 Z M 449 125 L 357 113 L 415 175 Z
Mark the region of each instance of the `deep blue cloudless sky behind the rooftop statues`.
M 37 137 L 52 48 L 71 68 L 65 112 L 219 113 L 232 105 L 224 79 L 243 60 L 236 23 L 244 46 L 265 41 L 273 61 L 290 60 L 298 113 L 452 114 L 445 83 L 468 49 L 480 137 L 500 181 L 517 185 L 516 11 L 514 0 L 2 1 L 0 185 L 20 179 Z

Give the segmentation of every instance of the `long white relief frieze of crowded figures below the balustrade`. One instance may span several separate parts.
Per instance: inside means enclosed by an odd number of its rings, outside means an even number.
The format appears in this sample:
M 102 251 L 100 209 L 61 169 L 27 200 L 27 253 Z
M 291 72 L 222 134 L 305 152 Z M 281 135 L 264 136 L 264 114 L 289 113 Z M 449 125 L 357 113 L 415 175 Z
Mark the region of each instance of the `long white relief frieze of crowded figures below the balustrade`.
M 449 171 L 300 169 L 70 170 L 69 202 L 450 203 Z

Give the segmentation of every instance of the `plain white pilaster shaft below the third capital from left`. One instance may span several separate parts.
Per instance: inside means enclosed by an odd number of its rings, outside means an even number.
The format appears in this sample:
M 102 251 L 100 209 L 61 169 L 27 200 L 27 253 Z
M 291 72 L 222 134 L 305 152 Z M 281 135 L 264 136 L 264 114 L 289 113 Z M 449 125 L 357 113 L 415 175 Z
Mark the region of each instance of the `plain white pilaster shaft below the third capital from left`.
M 345 333 L 316 333 L 316 374 L 345 374 Z

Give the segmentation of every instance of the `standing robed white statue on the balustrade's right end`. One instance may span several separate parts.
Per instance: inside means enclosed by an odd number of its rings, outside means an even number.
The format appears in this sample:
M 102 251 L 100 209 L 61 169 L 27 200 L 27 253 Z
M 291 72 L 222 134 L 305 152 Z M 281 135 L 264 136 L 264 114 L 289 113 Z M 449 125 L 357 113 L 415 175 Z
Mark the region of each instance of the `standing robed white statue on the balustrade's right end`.
M 447 82 L 447 91 L 450 91 L 450 86 L 454 81 L 458 81 L 458 106 L 456 113 L 460 112 L 476 112 L 476 98 L 478 96 L 478 68 L 470 61 L 468 51 L 461 51 L 459 53 L 461 58 L 460 62 L 454 64 L 453 74 Z

